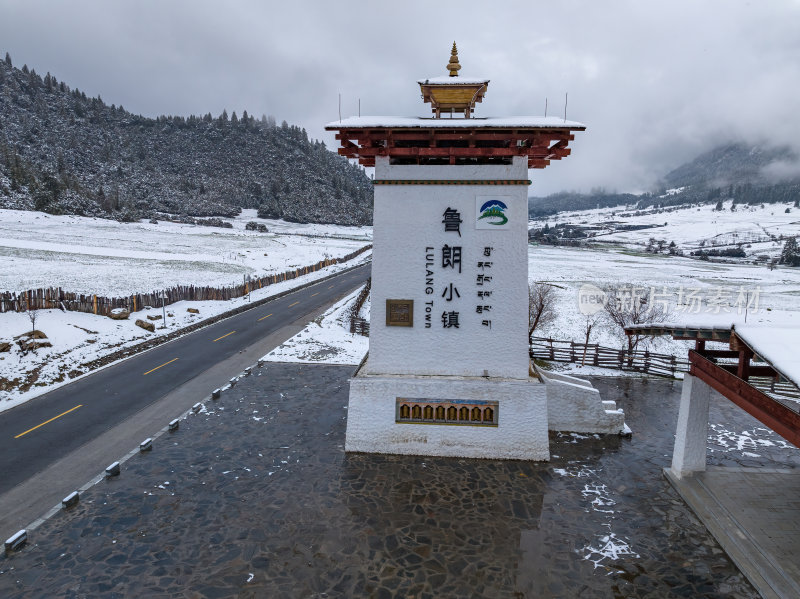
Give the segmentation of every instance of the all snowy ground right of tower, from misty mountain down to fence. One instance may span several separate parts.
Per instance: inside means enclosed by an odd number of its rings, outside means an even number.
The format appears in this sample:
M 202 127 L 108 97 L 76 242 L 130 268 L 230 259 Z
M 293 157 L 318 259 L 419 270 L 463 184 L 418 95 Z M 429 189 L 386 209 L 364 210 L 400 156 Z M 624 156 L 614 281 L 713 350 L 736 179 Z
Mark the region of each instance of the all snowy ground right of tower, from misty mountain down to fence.
M 770 270 L 763 262 L 755 263 L 758 256 L 777 257 L 782 238 L 800 235 L 800 209 L 792 204 L 766 204 L 737 205 L 731 210 L 731 205 L 723 202 L 723 210 L 716 210 L 714 204 L 643 211 L 599 208 L 531 221 L 534 228 L 545 223 L 594 228 L 585 247 L 529 248 L 530 279 L 552 283 L 558 298 L 557 318 L 537 330 L 537 336 L 584 341 L 587 317 L 579 310 L 578 294 L 585 284 L 600 289 L 626 285 L 631 292 L 635 288 L 639 296 L 668 306 L 668 320 L 673 324 L 729 326 L 746 318 L 748 324 L 800 325 L 800 269 L 777 266 Z M 620 231 L 620 225 L 652 228 Z M 665 241 L 662 253 L 643 251 L 651 238 Z M 701 261 L 670 256 L 670 242 L 686 254 L 741 243 L 748 257 Z M 622 347 L 624 339 L 601 320 L 592 330 L 590 343 Z M 662 338 L 652 349 L 683 356 L 686 347 L 686 342 Z M 608 372 L 591 367 L 580 371 Z

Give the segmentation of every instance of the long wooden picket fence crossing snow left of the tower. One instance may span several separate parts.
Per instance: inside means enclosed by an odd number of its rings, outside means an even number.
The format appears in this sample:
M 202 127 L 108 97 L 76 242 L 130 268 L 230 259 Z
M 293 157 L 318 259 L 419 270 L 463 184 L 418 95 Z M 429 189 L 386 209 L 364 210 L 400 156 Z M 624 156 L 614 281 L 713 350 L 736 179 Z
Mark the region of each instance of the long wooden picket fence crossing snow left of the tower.
M 47 289 L 29 289 L 20 293 L 10 291 L 0 292 L 0 313 L 26 312 L 28 310 L 44 310 L 48 308 L 61 308 L 72 312 L 89 312 L 108 316 L 115 308 L 123 308 L 128 312 L 136 312 L 144 306 L 161 306 L 161 296 L 164 295 L 164 305 L 180 301 L 204 300 L 229 300 L 244 297 L 251 291 L 261 289 L 281 281 L 296 279 L 302 275 L 316 272 L 326 266 L 347 262 L 363 254 L 372 246 L 366 245 L 341 258 L 320 260 L 310 266 L 302 266 L 279 274 L 265 275 L 240 285 L 229 287 L 195 287 L 193 285 L 179 285 L 153 291 L 151 293 L 137 293 L 126 297 L 103 297 L 99 295 L 84 295 L 64 291 L 60 287 Z

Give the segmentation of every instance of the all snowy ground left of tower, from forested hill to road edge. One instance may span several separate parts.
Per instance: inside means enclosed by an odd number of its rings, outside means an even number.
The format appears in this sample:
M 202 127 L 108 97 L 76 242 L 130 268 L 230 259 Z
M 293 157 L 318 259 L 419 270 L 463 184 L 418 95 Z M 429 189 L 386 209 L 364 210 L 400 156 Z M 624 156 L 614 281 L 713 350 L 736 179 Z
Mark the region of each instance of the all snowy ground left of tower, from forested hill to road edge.
M 243 274 L 282 272 L 289 268 L 335 258 L 363 247 L 371 228 L 335 225 L 297 225 L 259 219 L 269 233 L 246 231 L 255 211 L 226 219 L 232 229 L 174 223 L 117 223 L 38 212 L 0 210 L 0 290 L 19 291 L 39 286 L 122 295 L 174 284 L 226 285 L 241 282 Z M 347 264 L 253 291 L 256 301 L 366 262 L 370 252 Z M 0 411 L 85 374 L 82 364 L 144 339 L 172 333 L 248 302 L 178 302 L 167 307 L 155 332 L 137 327 L 137 318 L 160 316 L 159 307 L 140 310 L 128 320 L 60 310 L 36 311 L 36 329 L 52 347 L 23 354 L 14 338 L 31 329 L 25 313 L 0 314 Z M 187 312 L 192 307 L 195 315 Z M 359 358 L 360 359 L 360 358 Z M 22 389 L 20 389 L 22 387 Z

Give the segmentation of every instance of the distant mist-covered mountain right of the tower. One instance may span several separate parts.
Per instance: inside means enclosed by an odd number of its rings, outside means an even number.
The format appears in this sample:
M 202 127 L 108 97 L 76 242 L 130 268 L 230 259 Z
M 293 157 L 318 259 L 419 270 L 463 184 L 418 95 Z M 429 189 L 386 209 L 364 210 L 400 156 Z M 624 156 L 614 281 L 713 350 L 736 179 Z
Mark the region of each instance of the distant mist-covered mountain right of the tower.
M 733 200 L 734 204 L 770 204 L 800 199 L 800 162 L 788 147 L 765 148 L 745 143 L 718 146 L 663 177 L 660 189 L 644 194 L 558 193 L 529 198 L 531 217 L 564 210 L 610 206 L 680 206 Z

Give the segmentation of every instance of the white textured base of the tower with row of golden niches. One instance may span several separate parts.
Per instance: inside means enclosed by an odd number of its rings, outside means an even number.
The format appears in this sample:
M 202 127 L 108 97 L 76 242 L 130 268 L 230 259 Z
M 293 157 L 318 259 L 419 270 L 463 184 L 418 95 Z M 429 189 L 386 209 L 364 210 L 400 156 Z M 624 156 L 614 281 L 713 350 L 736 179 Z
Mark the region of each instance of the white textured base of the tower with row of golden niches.
M 359 373 L 350 381 L 345 450 L 549 460 L 546 385 Z

